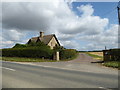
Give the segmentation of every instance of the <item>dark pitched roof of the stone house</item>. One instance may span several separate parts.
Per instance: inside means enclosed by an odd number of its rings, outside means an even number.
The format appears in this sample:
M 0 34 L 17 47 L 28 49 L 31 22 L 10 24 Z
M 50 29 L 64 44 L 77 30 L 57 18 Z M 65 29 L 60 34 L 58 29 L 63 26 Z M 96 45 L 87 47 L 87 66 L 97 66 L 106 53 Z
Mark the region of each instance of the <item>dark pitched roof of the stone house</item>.
M 44 42 L 45 44 L 48 44 L 53 37 L 55 37 L 57 43 L 60 45 L 60 43 L 58 42 L 55 34 L 44 35 L 43 37 L 32 37 L 29 41 L 31 41 L 31 42 L 41 41 L 41 42 Z M 29 41 L 28 41 L 28 42 L 29 42 Z

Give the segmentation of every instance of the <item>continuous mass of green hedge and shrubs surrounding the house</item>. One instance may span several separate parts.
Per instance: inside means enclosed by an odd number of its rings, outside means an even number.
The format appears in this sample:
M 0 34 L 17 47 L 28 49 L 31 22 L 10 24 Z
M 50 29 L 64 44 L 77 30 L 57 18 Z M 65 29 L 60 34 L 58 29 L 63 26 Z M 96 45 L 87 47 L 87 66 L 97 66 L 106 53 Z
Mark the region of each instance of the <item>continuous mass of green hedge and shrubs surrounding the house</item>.
M 53 50 L 43 42 L 30 44 L 16 44 L 13 48 L 2 49 L 4 57 L 31 57 L 53 59 L 56 51 L 60 52 L 60 59 L 72 59 L 77 55 L 75 49 L 65 49 L 62 46 L 56 46 Z

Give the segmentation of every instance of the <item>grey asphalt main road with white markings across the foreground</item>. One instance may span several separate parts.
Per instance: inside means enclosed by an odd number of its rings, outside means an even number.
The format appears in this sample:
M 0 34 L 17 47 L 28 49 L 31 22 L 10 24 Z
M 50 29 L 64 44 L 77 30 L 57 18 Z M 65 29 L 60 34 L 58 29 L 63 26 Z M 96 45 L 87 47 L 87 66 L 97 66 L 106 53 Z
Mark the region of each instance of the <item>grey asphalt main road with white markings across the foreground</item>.
M 118 75 L 4 61 L 2 63 L 2 87 L 118 88 Z

